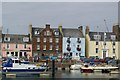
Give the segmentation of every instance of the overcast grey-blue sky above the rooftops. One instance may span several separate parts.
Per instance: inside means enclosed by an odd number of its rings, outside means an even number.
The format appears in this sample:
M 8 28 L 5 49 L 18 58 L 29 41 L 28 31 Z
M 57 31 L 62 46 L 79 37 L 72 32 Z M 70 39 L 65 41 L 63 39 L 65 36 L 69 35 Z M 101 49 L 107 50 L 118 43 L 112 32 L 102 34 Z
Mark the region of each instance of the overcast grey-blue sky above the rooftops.
M 3 33 L 27 34 L 28 25 L 63 28 L 89 26 L 91 31 L 112 30 L 118 23 L 118 2 L 2 2 Z M 112 1 L 112 0 L 111 0 Z M 0 4 L 1 5 L 1 4 Z M 97 28 L 97 26 L 99 28 Z

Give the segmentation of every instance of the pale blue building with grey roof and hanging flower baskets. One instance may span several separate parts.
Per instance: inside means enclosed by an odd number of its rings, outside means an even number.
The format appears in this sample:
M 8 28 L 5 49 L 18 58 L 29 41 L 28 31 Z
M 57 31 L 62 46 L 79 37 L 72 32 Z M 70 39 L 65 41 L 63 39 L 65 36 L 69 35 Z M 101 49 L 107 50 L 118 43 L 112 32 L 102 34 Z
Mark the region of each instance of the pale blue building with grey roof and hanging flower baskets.
M 85 38 L 82 26 L 78 29 L 63 28 L 63 57 L 79 60 L 85 56 Z

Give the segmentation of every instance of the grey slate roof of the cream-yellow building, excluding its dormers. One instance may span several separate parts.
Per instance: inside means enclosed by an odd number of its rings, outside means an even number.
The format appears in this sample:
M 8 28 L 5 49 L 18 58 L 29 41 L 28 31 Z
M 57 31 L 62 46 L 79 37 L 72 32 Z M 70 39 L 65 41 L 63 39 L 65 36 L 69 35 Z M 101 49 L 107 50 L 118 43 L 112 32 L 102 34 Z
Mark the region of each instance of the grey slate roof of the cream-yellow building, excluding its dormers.
M 94 35 L 101 35 L 101 38 L 99 41 L 104 41 L 104 32 L 89 32 L 90 40 L 95 41 Z M 106 41 L 111 41 L 111 35 L 115 35 L 113 32 L 106 32 Z

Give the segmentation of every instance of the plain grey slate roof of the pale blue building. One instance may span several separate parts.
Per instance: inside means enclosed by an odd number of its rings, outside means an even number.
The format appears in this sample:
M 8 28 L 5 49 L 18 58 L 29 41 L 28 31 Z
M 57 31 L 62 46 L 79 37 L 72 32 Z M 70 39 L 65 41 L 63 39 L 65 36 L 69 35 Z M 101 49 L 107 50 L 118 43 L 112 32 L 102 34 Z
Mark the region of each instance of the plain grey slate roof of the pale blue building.
M 83 33 L 79 31 L 79 29 L 73 28 L 63 28 L 64 37 L 84 37 Z

